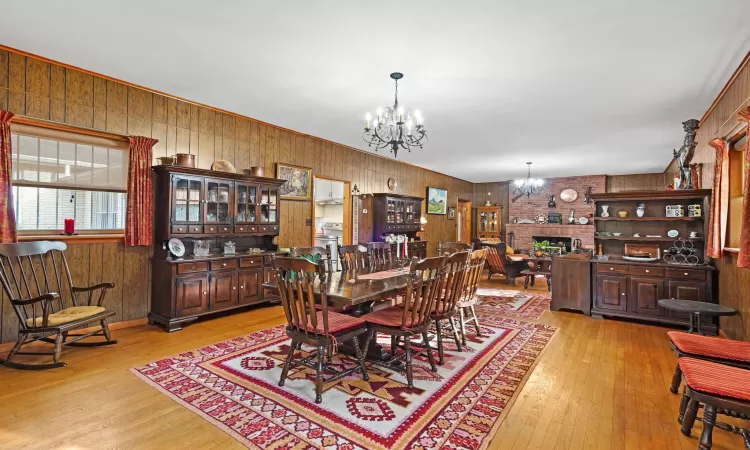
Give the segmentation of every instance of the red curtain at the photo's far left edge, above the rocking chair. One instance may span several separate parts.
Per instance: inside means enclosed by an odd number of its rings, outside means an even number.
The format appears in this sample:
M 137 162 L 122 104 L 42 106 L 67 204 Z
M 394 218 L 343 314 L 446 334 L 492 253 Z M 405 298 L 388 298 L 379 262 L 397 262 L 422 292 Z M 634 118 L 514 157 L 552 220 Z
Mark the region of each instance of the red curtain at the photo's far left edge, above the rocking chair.
M 0 109 L 0 243 L 16 242 L 16 212 L 13 209 L 13 158 L 10 120 L 13 113 Z

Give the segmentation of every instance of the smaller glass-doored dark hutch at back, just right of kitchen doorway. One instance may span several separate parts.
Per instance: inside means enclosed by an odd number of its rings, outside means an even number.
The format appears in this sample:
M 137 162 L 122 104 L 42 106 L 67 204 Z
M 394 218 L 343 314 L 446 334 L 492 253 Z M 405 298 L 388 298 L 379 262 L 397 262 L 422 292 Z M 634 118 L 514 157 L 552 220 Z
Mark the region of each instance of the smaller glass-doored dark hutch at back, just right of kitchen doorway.
M 407 245 L 409 256 L 426 258 L 427 241 L 419 240 L 417 236 L 421 227 L 422 200 L 421 197 L 388 193 L 365 195 L 360 201 L 359 243 L 383 242 L 383 236 L 405 234 L 414 238 L 414 242 Z M 393 251 L 396 251 L 395 244 Z

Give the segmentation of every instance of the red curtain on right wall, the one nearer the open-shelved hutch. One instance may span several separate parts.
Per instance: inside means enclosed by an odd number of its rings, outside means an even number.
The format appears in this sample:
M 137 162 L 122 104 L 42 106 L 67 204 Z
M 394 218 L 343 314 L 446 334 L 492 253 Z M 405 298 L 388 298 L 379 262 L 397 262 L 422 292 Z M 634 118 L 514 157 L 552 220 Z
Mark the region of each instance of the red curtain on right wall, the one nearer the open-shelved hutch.
M 706 254 L 711 258 L 721 258 L 724 256 L 729 214 L 729 144 L 721 139 L 714 139 L 709 144 L 716 149 L 716 164 Z

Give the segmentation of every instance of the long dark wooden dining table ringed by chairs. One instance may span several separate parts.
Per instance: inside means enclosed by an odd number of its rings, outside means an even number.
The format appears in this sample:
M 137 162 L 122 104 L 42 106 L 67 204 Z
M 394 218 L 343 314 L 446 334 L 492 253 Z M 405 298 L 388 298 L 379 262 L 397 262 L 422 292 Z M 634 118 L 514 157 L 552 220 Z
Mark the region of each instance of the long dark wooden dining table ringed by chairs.
M 344 314 L 355 317 L 372 311 L 373 305 L 403 293 L 409 281 L 409 266 L 373 267 L 357 270 L 329 272 L 326 276 L 326 299 L 328 306 L 343 310 Z M 263 288 L 278 293 L 275 281 L 263 283 Z M 313 286 L 318 302 L 321 300 L 320 278 L 315 279 Z M 353 347 L 341 345 L 343 353 L 355 355 Z M 390 355 L 382 346 L 371 342 L 366 355 L 367 359 L 385 361 Z

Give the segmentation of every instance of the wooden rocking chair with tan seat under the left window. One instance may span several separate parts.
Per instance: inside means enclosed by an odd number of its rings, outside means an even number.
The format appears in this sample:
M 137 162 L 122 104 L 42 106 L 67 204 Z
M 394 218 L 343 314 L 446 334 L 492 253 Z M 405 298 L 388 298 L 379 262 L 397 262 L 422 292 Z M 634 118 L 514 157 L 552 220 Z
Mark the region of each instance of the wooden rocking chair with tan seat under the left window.
M 18 316 L 18 341 L 0 359 L 0 365 L 23 370 L 43 370 L 64 367 L 60 362 L 63 345 L 96 347 L 117 344 L 107 327 L 107 318 L 115 314 L 102 306 L 104 296 L 114 284 L 101 283 L 89 287 L 73 286 L 73 279 L 65 259 L 64 242 L 36 241 L 20 244 L 0 244 L 0 282 Z M 67 283 L 67 292 L 64 291 Z M 98 295 L 94 296 L 97 292 Z M 76 296 L 80 294 L 82 301 Z M 99 323 L 101 328 L 85 334 L 68 334 L 71 330 L 89 328 Z M 91 336 L 104 336 L 100 342 L 78 342 Z M 71 339 L 69 339 L 71 338 Z M 35 341 L 55 345 L 52 352 L 22 352 L 21 347 Z M 12 361 L 16 355 L 51 355 L 52 364 L 25 364 Z

